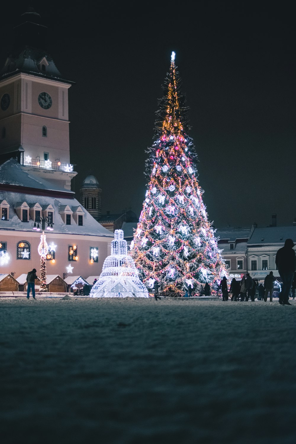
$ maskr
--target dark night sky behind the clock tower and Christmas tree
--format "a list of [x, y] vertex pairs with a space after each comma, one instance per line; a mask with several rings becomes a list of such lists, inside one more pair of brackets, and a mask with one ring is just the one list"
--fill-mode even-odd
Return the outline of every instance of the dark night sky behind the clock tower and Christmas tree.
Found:
[[[214, 226], [292, 225], [292, 2], [31, 2], [69, 90], [76, 198], [87, 174], [102, 211], [142, 210], [145, 150], [171, 52], [187, 97], [199, 183]], [[99, 7], [97, 8], [97, 6]], [[0, 64], [24, 2], [1, 6]], [[5, 19], [5, 20], [4, 20]]]

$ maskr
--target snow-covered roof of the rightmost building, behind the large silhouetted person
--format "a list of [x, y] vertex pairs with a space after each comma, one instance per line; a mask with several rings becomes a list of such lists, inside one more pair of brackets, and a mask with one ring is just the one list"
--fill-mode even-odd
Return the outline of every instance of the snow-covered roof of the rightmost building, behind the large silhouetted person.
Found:
[[296, 243], [296, 226], [268, 226], [255, 228], [248, 241], [251, 245], [284, 245], [286, 239], [292, 239]]

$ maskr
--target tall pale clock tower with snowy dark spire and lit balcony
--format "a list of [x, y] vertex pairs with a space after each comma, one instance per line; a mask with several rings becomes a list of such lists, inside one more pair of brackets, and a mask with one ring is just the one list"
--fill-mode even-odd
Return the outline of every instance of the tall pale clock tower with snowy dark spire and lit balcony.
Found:
[[68, 90], [46, 51], [47, 28], [33, 8], [14, 28], [12, 51], [0, 71], [0, 164], [14, 157], [30, 175], [71, 190]]

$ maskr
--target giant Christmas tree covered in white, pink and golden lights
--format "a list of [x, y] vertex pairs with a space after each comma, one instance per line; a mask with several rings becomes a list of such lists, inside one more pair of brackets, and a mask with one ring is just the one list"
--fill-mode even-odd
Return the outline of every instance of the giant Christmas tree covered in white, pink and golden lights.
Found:
[[197, 182], [197, 155], [174, 56], [156, 113], [146, 164], [149, 183], [130, 254], [148, 288], [158, 281], [164, 291], [181, 292], [208, 282], [216, 290], [227, 272]]

